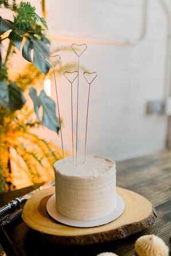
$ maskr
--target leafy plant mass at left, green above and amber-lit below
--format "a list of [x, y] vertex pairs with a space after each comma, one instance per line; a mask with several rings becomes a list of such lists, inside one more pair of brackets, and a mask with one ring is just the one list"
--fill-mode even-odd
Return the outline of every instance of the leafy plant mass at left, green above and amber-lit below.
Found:
[[[17, 5], [14, 0], [12, 3], [0, 0], [0, 7], [14, 13], [13, 21], [0, 17], [0, 192], [5, 192], [14, 188], [11, 162], [17, 165], [19, 173], [25, 171], [29, 180], [37, 183], [52, 179], [53, 162], [61, 158], [62, 154], [55, 145], [32, 133], [33, 127], [41, 125], [59, 131], [55, 102], [43, 90], [37, 96], [36, 89], [32, 88], [30, 96], [34, 101], [34, 108], [42, 106], [44, 113], [41, 120], [36, 111], [37, 120], [33, 120], [33, 110], [27, 106], [24, 96], [29, 94], [30, 86], [37, 88], [42, 85], [44, 76], [50, 69], [44, 59], [50, 52], [50, 41], [45, 37], [43, 28], [47, 28], [46, 22], [36, 14], [35, 7], [29, 2]], [[9, 44], [5, 57], [2, 58], [3, 42], [6, 40]], [[8, 69], [11, 57], [17, 49], [30, 64], [25, 67], [24, 72], [11, 80]], [[72, 65], [63, 66], [60, 63], [56, 71], [60, 73]]]

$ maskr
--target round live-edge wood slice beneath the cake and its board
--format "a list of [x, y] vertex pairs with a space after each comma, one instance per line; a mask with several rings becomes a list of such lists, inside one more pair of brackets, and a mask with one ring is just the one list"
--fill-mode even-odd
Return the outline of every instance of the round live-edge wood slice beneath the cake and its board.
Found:
[[38, 191], [26, 202], [22, 212], [24, 222], [50, 242], [86, 245], [113, 241], [148, 228], [157, 218], [149, 200], [133, 191], [117, 188], [126, 205], [118, 219], [98, 227], [71, 227], [56, 222], [46, 212], [46, 203], [54, 193], [55, 187]]

